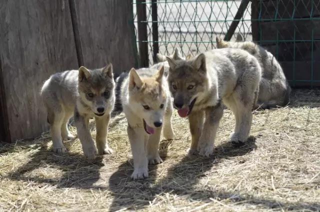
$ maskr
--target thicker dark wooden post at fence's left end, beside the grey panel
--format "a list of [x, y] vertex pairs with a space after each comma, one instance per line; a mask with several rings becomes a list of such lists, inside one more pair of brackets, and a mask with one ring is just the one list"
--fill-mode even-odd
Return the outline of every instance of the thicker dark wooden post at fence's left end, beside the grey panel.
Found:
[[136, 15], [138, 21], [138, 40], [139, 40], [139, 66], [149, 66], [148, 61], [148, 32], [146, 22], [145, 0], [136, 0]]

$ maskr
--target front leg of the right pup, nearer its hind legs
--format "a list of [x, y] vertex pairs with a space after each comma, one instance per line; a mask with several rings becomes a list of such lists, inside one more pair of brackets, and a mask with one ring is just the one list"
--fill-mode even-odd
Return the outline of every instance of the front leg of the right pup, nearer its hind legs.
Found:
[[223, 108], [220, 103], [205, 109], [205, 121], [197, 147], [200, 155], [208, 157], [213, 153], [214, 139], [222, 115]]

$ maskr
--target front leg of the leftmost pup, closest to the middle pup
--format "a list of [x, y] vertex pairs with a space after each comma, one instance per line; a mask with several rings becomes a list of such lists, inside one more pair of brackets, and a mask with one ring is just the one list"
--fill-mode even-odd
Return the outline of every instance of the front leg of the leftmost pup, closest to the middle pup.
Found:
[[105, 114], [102, 117], [95, 117], [95, 128], [96, 128], [96, 148], [98, 149], [98, 154], [111, 154], [112, 149], [107, 143], [107, 128], [110, 120], [110, 115]]

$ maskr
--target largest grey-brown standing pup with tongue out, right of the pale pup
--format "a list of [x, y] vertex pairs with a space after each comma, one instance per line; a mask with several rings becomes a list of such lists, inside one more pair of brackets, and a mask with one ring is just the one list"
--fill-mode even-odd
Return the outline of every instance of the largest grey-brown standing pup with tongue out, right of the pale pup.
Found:
[[191, 146], [188, 152], [198, 151], [202, 156], [212, 154], [223, 114], [221, 101], [235, 116], [231, 142], [243, 144], [250, 131], [251, 110], [261, 77], [256, 58], [244, 50], [231, 48], [214, 49], [189, 60], [166, 58], [170, 65], [167, 79], [174, 107], [181, 117], [189, 119]]

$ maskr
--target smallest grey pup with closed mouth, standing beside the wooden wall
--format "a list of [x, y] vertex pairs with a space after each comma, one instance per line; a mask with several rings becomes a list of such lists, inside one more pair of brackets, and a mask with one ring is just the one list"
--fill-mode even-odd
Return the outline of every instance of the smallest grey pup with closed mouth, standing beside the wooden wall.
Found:
[[114, 105], [114, 80], [112, 64], [89, 70], [55, 73], [41, 88], [41, 97], [47, 109], [47, 120], [54, 152], [65, 152], [63, 140], [72, 138], [67, 123], [74, 112], [77, 135], [83, 153], [89, 159], [96, 156], [96, 148], [88, 129], [89, 118], [96, 123], [96, 147], [98, 154], [109, 154], [112, 150], [106, 141], [110, 112]]

